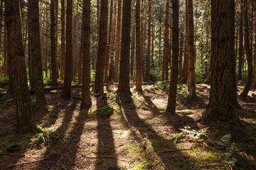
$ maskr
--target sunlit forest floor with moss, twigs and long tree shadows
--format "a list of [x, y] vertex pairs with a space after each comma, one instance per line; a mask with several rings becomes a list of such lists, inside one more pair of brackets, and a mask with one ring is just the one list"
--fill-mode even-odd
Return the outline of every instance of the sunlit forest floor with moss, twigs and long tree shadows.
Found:
[[117, 96], [117, 86], [109, 86], [107, 104], [92, 96], [89, 110], [80, 110], [81, 89], [71, 99], [49, 91], [47, 106], [33, 106], [39, 134], [17, 134], [14, 101], [1, 98], [0, 169], [256, 169], [255, 89], [239, 101], [242, 125], [209, 127], [198, 121], [209, 84], [196, 86], [193, 101], [186, 85], [178, 85], [172, 115], [164, 112], [168, 83], [143, 89], [142, 96]]

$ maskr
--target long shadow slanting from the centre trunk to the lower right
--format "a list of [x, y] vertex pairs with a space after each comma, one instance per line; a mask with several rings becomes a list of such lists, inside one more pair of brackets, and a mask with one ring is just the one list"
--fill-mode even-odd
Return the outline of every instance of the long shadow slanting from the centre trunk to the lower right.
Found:
[[[146, 103], [152, 106], [152, 111], [159, 114], [160, 112], [157, 110], [154, 103], [151, 102], [150, 98], [148, 96], [144, 96], [144, 98]], [[188, 157], [186, 157], [186, 155], [182, 154], [180, 151], [164, 152], [166, 150], [175, 149], [176, 145], [171, 140], [159, 135], [151, 128], [151, 125], [148, 125], [144, 122], [144, 120], [139, 118], [131, 96], [119, 96], [117, 100], [119, 100], [120, 104], [124, 108], [124, 115], [126, 116], [129, 125], [138, 130], [142, 137], [141, 140], [147, 139], [151, 142], [151, 145], [154, 147], [154, 153], [156, 153], [156, 159], [160, 160], [160, 162], [164, 164], [166, 168], [182, 169], [190, 165], [188, 162]], [[183, 162], [180, 160], [183, 160]]]

